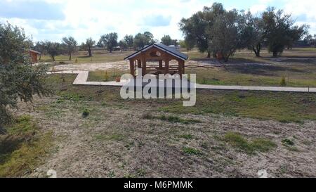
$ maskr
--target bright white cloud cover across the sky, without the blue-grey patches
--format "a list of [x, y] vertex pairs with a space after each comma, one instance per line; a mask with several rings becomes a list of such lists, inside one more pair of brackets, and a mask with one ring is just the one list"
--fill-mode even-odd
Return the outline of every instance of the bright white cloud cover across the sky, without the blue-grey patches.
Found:
[[[29, 1], [34, 4], [39, 0], [5, 0]], [[160, 39], [164, 34], [170, 34], [175, 39], [182, 39], [178, 23], [181, 18], [190, 17], [192, 13], [202, 10], [204, 6], [211, 6], [209, 0], [42, 0], [48, 4], [58, 4], [65, 15], [63, 20], [39, 20], [22, 18], [0, 18], [0, 22], [8, 20], [13, 25], [25, 28], [27, 34], [33, 34], [34, 41], [60, 41], [64, 36], [72, 35], [79, 42], [88, 37], [98, 40], [101, 34], [118, 32], [119, 39], [125, 34], [136, 34], [148, 30]], [[258, 3], [245, 4], [244, 9], [250, 7], [251, 12], [264, 11], [273, 0], [259, 0]], [[279, 4], [280, 1], [278, 1]], [[223, 1], [225, 6], [225, 1]], [[238, 1], [236, 1], [236, 5]], [[282, 1], [281, 8], [293, 13], [294, 17], [305, 14], [307, 23], [316, 33], [316, 10], [312, 0]], [[238, 4], [240, 5], [240, 4]], [[231, 6], [234, 6], [232, 4]], [[240, 7], [240, 6], [239, 6]], [[1, 17], [1, 15], [0, 15]], [[168, 18], [169, 25], [148, 25], [146, 18]], [[167, 23], [167, 22], [165, 22]]]

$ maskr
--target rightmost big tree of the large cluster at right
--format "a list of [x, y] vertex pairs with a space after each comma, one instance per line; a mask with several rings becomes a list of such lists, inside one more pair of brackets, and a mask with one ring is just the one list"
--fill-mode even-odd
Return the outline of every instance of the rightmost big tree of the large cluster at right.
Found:
[[267, 8], [262, 15], [263, 30], [265, 31], [265, 41], [268, 44], [268, 51], [274, 57], [279, 56], [285, 46], [293, 44], [296, 39], [301, 39], [307, 30], [307, 26], [294, 26], [291, 15], [284, 14], [282, 10]]

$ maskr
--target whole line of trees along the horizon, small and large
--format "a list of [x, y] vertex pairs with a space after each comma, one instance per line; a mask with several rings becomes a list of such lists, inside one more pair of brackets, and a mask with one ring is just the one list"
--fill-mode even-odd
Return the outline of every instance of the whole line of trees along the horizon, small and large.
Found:
[[[298, 26], [294, 23], [291, 15], [272, 7], [268, 7], [260, 15], [253, 15], [250, 11], [227, 11], [223, 4], [214, 3], [211, 7], [205, 6], [190, 18], [180, 20], [179, 27], [184, 40], [178, 41], [166, 34], [160, 42], [167, 46], [180, 45], [188, 51], [197, 47], [201, 53], [207, 53], [207, 58], [220, 54], [225, 61], [239, 49], [249, 49], [256, 57], [260, 57], [265, 46], [272, 56], [277, 57], [284, 49], [291, 49], [300, 39], [303, 39], [305, 45], [316, 46], [316, 36], [308, 34], [309, 26]], [[119, 41], [117, 32], [111, 32], [101, 35], [98, 41], [90, 37], [80, 46], [73, 37], [64, 37], [61, 44], [40, 41], [35, 44], [34, 49], [48, 53], [53, 60], [55, 56], [67, 53], [71, 60], [72, 53], [78, 49], [88, 51], [88, 56], [91, 57], [92, 49], [96, 46], [112, 53], [116, 46], [119, 46], [121, 51], [139, 50], [158, 41], [151, 32], [138, 33], [135, 36], [126, 34]]]

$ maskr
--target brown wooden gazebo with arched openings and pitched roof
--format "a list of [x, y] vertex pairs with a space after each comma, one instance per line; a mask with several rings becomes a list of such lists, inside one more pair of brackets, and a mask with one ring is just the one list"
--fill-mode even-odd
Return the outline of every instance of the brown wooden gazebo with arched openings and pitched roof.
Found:
[[[173, 47], [164, 44], [150, 44], [124, 58], [124, 60], [129, 60], [133, 77], [136, 77], [137, 67], [142, 68], [143, 75], [179, 74], [182, 77], [185, 72], [185, 60], [187, 58], [187, 55]], [[176, 60], [178, 65], [169, 65], [171, 60]], [[157, 62], [159, 65], [146, 65], [147, 62]]]

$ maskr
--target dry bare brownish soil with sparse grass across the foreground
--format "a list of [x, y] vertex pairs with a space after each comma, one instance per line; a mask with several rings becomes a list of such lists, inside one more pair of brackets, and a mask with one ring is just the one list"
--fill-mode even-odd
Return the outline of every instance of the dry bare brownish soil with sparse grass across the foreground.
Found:
[[[183, 124], [148, 120], [144, 114], [169, 115], [148, 107], [55, 97], [36, 98], [36, 110], [21, 103], [15, 114], [29, 113], [55, 137], [53, 153], [27, 177], [45, 177], [48, 169], [58, 177], [258, 177], [260, 169], [268, 177], [316, 177], [316, 122], [189, 114], [179, 116], [200, 122]], [[83, 108], [91, 110], [86, 118]], [[277, 147], [249, 155], [221, 139], [227, 132], [269, 139]], [[284, 146], [283, 139], [294, 141], [295, 148]]]

